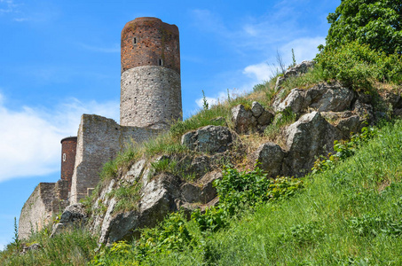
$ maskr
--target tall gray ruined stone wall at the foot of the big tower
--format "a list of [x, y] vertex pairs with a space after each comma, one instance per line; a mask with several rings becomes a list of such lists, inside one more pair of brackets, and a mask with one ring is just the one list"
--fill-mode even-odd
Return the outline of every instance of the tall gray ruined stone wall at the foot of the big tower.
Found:
[[72, 178], [70, 203], [75, 204], [99, 183], [103, 165], [113, 160], [130, 141], [142, 142], [159, 130], [122, 127], [112, 119], [83, 114], [78, 129], [75, 172]]

